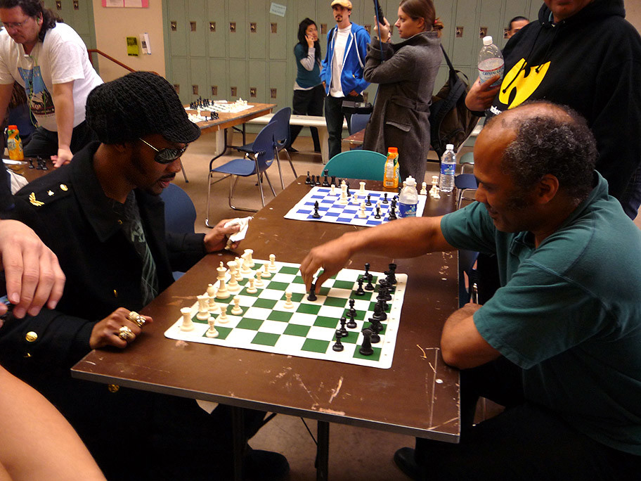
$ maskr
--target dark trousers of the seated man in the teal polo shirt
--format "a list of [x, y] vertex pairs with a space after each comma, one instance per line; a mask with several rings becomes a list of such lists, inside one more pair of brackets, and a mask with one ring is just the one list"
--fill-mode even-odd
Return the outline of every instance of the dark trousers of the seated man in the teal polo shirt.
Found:
[[[479, 395], [507, 408], [472, 426]], [[520, 369], [504, 358], [461, 371], [460, 444], [416, 441], [416, 461], [430, 481], [627, 480], [641, 470], [641, 456], [600, 444], [524, 401]]]

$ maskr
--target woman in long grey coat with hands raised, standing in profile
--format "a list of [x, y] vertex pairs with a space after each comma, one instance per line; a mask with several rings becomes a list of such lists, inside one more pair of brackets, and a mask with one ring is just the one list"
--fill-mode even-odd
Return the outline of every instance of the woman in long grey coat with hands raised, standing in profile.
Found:
[[441, 65], [441, 28], [432, 0], [401, 0], [394, 24], [401, 41], [391, 44], [387, 18], [374, 27], [363, 77], [380, 84], [363, 148], [383, 154], [399, 149], [401, 180], [425, 178], [429, 152], [429, 105]]

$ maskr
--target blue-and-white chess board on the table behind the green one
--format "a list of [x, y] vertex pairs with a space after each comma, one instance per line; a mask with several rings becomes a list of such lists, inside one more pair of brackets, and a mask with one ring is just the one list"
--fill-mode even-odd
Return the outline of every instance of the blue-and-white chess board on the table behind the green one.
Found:
[[[299, 200], [299, 202], [285, 214], [285, 219], [294, 220], [311, 220], [320, 222], [332, 222], [334, 224], [351, 224], [354, 226], [377, 226], [384, 222], [389, 222], [387, 214], [389, 212], [389, 201], [394, 197], [394, 193], [382, 191], [369, 191], [365, 189], [365, 193], [360, 193], [360, 189], [351, 189], [351, 196], [349, 203], [342, 205], [338, 203], [340, 198], [340, 188], [335, 188], [335, 193], [331, 193], [330, 187], [312, 187], [310, 191]], [[361, 210], [361, 202], [367, 199], [370, 195], [370, 203], [372, 205], [365, 206], [365, 218], [358, 217], [358, 212]], [[387, 194], [388, 203], [384, 204], [384, 195]], [[354, 196], [356, 195], [356, 200]], [[417, 217], [422, 216], [425, 209], [425, 201], [427, 196], [418, 196], [418, 205], [416, 206]], [[380, 205], [380, 219], [376, 219], [376, 205], [381, 201]], [[313, 218], [314, 203], [318, 202], [318, 214], [321, 214], [320, 219]], [[396, 206], [396, 215], [399, 214], [398, 205]]]

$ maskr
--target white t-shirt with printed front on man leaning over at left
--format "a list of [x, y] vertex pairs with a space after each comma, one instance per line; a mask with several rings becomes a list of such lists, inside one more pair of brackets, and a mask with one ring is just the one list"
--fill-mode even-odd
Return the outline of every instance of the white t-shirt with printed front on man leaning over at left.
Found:
[[47, 130], [58, 131], [53, 106], [53, 84], [74, 81], [74, 127], [84, 121], [89, 92], [103, 83], [93, 70], [86, 46], [69, 25], [56, 23], [44, 42], [37, 42], [30, 55], [16, 44], [6, 30], [0, 31], [0, 84], [25, 87], [27, 103], [36, 120]]

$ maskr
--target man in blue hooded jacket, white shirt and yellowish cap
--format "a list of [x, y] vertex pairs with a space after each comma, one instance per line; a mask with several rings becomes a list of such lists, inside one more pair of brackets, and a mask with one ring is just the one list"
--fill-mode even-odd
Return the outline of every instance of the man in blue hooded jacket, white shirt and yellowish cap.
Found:
[[351, 23], [351, 1], [333, 0], [336, 27], [328, 33], [327, 55], [321, 65], [325, 88], [325, 122], [330, 138], [329, 156], [341, 151], [343, 116], [349, 124], [351, 115], [342, 112], [343, 101], [363, 101], [363, 90], [369, 82], [363, 79], [363, 66], [370, 34], [361, 25]]

